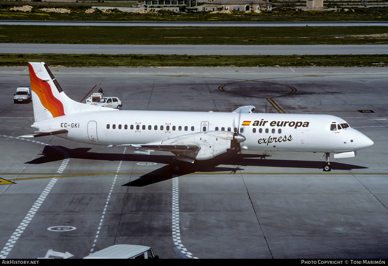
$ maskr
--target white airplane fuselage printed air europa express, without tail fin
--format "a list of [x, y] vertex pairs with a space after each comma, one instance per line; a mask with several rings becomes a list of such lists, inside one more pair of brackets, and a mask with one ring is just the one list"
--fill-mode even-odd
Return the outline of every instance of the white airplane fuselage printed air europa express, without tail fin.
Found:
[[[33, 127], [67, 129], [57, 136], [100, 145], [161, 144], [196, 132], [223, 130], [246, 137], [244, 150], [347, 152], [373, 143], [331, 115], [216, 113], [183, 111], [86, 111], [35, 122]], [[341, 126], [340, 126], [341, 127]]]

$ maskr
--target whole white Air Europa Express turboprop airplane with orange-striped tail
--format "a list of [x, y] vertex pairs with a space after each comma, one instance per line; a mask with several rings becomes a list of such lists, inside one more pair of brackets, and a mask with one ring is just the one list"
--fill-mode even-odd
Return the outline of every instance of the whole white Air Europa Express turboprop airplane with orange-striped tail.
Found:
[[38, 131], [21, 137], [57, 135], [82, 143], [171, 151], [176, 173], [182, 172], [184, 162], [231, 149], [324, 153], [323, 169], [330, 171], [330, 153], [352, 157], [373, 145], [332, 115], [252, 113], [254, 106], [232, 113], [118, 111], [78, 103], [66, 96], [45, 63], [28, 64], [35, 117], [31, 127]]

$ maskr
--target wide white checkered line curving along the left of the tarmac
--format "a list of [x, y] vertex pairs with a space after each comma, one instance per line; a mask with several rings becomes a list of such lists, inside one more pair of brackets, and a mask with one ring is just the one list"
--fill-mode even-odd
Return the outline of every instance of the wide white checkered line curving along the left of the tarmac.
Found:
[[[52, 146], [52, 145], [47, 144], [47, 143], [30, 140], [30, 139], [23, 139], [23, 138], [19, 138], [19, 137], [12, 137], [12, 136], [5, 136], [5, 135], [0, 135], [0, 136], [14, 138], [14, 139], [21, 139], [21, 140], [25, 140], [25, 141], [31, 141], [31, 142], [35, 142], [35, 143], [42, 144], [45, 146], [50, 146], [51, 148], [54, 148], [55, 150], [61, 151], [64, 155], [64, 159], [57, 170], [57, 174], [62, 174], [62, 172], [65, 170], [66, 166], [69, 163], [69, 160], [70, 160], [69, 153], [67, 153], [66, 151], [64, 151], [58, 147]], [[46, 188], [42, 191], [42, 193], [40, 194], [38, 199], [35, 201], [34, 205], [31, 207], [31, 209], [29, 210], [26, 217], [24, 217], [23, 221], [19, 224], [17, 229], [14, 231], [12, 236], [9, 238], [9, 240], [7, 241], [5, 246], [3, 247], [2, 251], [0, 251], [0, 259], [7, 258], [7, 256], [9, 255], [9, 252], [12, 250], [12, 247], [14, 247], [14, 243], [16, 243], [16, 241], [19, 239], [19, 236], [21, 236], [21, 234], [24, 232], [24, 229], [26, 229], [29, 222], [35, 216], [36, 212], [38, 211], [38, 209], [42, 205], [43, 201], [46, 199], [47, 195], [49, 195], [51, 189], [54, 187], [55, 183], [58, 180], [57, 177], [51, 177], [51, 178], [52, 179], [50, 180], [49, 184], [47, 184]]]

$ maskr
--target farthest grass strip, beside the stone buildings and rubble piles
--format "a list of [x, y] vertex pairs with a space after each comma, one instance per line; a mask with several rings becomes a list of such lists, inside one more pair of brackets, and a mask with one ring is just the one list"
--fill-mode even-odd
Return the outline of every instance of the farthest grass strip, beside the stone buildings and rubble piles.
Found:
[[[258, 14], [255, 12], [245, 13], [234, 11], [232, 14], [211, 14], [210, 12], [187, 12], [177, 13], [168, 10], [160, 10], [157, 13], [139, 14], [134, 12], [120, 12], [113, 10], [113, 13], [107, 14], [101, 11], [95, 11], [92, 14], [86, 14], [85, 10], [93, 6], [130, 7], [133, 2], [38, 2], [38, 1], [2, 1], [0, 0], [0, 17], [6, 20], [50, 20], [50, 21], [386, 21], [388, 8], [386, 6], [369, 8], [346, 8], [339, 10], [325, 11], [302, 11], [296, 9], [276, 9], [277, 4], [273, 4], [272, 11], [263, 11]], [[201, 10], [201, 3], [198, 3]], [[337, 2], [333, 2], [338, 5]], [[359, 4], [359, 2], [357, 3]], [[14, 6], [31, 5], [31, 12], [12, 11]], [[304, 1], [302, 5], [306, 5]], [[61, 14], [55, 12], [43, 12], [42, 8], [66, 8], [71, 13]]]

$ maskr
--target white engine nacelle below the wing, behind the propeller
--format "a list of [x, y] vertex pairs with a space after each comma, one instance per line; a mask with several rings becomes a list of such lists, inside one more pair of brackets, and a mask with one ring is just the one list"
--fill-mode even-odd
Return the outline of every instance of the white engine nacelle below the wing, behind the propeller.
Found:
[[205, 131], [166, 139], [162, 144], [195, 144], [198, 151], [172, 151], [175, 155], [189, 157], [193, 160], [208, 160], [234, 148], [237, 143], [245, 141], [241, 134], [230, 131]]

